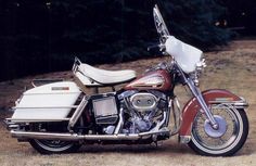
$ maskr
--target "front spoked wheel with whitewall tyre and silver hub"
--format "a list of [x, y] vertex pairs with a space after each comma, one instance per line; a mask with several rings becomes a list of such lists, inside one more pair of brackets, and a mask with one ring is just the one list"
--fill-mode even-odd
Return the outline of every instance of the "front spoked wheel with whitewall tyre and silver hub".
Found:
[[202, 155], [229, 156], [238, 152], [248, 135], [248, 120], [244, 110], [231, 105], [212, 105], [212, 112], [218, 129], [212, 128], [208, 119], [201, 112], [194, 118], [191, 149]]

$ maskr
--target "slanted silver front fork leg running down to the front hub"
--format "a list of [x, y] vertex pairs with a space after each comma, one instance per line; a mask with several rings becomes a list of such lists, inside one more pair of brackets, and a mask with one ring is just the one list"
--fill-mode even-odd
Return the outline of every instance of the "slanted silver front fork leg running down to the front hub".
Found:
[[191, 92], [193, 93], [193, 95], [197, 100], [200, 106], [204, 111], [204, 113], [205, 113], [206, 117], [208, 118], [212, 127], [214, 129], [218, 129], [218, 127], [219, 127], [218, 123], [215, 120], [213, 113], [210, 112], [207, 104], [205, 103], [205, 100], [202, 95], [202, 92], [201, 92], [200, 88], [194, 85], [194, 81], [191, 78], [188, 78], [187, 85], [189, 86]]

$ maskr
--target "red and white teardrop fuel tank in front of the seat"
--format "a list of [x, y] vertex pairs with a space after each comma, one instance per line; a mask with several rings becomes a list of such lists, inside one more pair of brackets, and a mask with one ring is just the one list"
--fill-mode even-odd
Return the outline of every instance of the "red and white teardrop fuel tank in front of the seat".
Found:
[[145, 73], [125, 87], [126, 90], [161, 90], [167, 91], [172, 88], [171, 77], [167, 71], [158, 69]]

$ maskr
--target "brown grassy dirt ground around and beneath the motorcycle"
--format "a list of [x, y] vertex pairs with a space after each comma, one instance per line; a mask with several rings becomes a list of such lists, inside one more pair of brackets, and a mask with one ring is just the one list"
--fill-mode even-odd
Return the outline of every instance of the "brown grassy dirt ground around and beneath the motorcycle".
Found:
[[[248, 103], [249, 135], [242, 150], [231, 157], [200, 156], [187, 145], [179, 144], [177, 137], [154, 145], [89, 145], [82, 146], [78, 153], [61, 155], [41, 155], [28, 143], [18, 143], [10, 137], [2, 120], [10, 117], [9, 107], [24, 91], [30, 88], [34, 78], [73, 79], [71, 72], [30, 76], [0, 82], [0, 165], [2, 166], [69, 166], [69, 165], [104, 165], [104, 166], [248, 166], [256, 165], [256, 40], [233, 41], [222, 51], [206, 53], [207, 68], [201, 78], [201, 89], [223, 88], [244, 97]], [[145, 68], [168, 58], [140, 60], [116, 65], [101, 65], [101, 68], [132, 68], [142, 73]], [[184, 103], [188, 97], [182, 87], [176, 90]]]

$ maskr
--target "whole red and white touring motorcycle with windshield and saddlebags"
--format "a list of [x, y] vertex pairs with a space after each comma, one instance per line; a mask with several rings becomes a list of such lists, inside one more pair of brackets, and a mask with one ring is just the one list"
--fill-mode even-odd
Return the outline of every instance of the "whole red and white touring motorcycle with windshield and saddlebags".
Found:
[[[157, 143], [175, 135], [201, 155], [238, 152], [248, 135], [247, 102], [228, 90], [201, 91], [203, 52], [169, 35], [157, 5], [153, 16], [159, 35], [155, 47], [169, 62], [137, 77], [135, 71], [100, 69], [76, 58], [75, 81], [34, 85], [16, 101], [14, 114], [5, 119], [11, 136], [42, 154], [93, 143]], [[120, 84], [126, 86], [116, 91]], [[193, 95], [183, 108], [174, 92], [177, 85], [187, 86]], [[113, 90], [99, 93], [102, 87]], [[94, 92], [88, 94], [85, 88]]]

